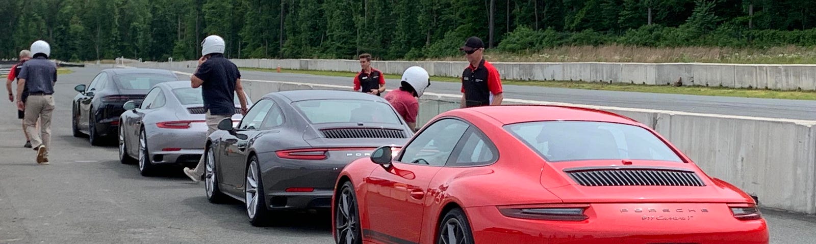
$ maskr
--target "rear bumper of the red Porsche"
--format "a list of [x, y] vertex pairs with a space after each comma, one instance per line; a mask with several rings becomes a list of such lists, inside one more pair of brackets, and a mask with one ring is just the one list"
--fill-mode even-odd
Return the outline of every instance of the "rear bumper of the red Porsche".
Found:
[[[704, 209], [704, 211], [703, 211]], [[767, 244], [764, 219], [737, 220], [726, 204], [592, 204], [588, 220], [526, 220], [497, 207], [466, 209], [476, 243]]]

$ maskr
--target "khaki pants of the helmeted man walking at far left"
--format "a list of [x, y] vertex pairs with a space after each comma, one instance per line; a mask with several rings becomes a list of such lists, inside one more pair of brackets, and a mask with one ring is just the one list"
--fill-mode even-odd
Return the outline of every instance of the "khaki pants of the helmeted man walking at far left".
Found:
[[[25, 101], [25, 132], [31, 137], [31, 146], [46, 146], [46, 155], [51, 150], [51, 113], [54, 112], [54, 97], [51, 95], [30, 95]], [[40, 133], [37, 133], [37, 120]], [[41, 135], [42, 133], [42, 135]]]

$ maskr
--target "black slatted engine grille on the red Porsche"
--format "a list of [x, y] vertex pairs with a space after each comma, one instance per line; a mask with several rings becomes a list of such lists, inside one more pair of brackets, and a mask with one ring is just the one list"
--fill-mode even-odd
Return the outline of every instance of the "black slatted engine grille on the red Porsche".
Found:
[[567, 170], [575, 182], [584, 186], [668, 185], [705, 186], [696, 173], [681, 169], [632, 168]]

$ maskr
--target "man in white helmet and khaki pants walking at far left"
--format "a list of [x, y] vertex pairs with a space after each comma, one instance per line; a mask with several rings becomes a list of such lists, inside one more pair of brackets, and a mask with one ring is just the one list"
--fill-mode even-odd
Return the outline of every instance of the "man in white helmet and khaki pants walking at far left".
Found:
[[[25, 111], [25, 131], [31, 137], [31, 146], [37, 150], [37, 163], [48, 164], [48, 150], [51, 150], [51, 113], [54, 111], [54, 83], [56, 63], [48, 60], [51, 46], [46, 41], [31, 44], [33, 59], [23, 63], [17, 75], [17, 108]], [[28, 89], [28, 98], [23, 100], [23, 89]], [[40, 133], [37, 133], [37, 119]]]

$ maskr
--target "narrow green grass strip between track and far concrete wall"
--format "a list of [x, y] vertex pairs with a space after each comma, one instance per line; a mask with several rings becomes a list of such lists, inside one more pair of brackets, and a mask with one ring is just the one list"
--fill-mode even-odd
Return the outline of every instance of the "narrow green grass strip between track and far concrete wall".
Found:
[[[260, 72], [277, 72], [271, 68], [241, 68], [246, 71], [260, 71]], [[331, 71], [313, 71], [313, 70], [291, 70], [282, 69], [281, 72], [309, 74], [316, 76], [340, 76], [340, 77], [354, 77], [355, 72], [331, 72]], [[400, 79], [401, 76], [385, 75], [386, 79]], [[446, 76], [432, 76], [431, 82], [460, 82], [459, 78]], [[351, 85], [351, 79], [348, 84]], [[502, 81], [503, 85], [530, 85], [552, 88], [570, 88], [570, 89], [595, 89], [595, 90], [613, 90], [613, 91], [628, 91], [628, 92], [644, 92], [654, 94], [689, 94], [689, 95], [703, 95], [703, 96], [721, 96], [721, 97], [740, 97], [740, 98], [780, 98], [780, 99], [796, 99], [796, 100], [816, 100], [816, 92], [814, 91], [781, 91], [771, 89], [734, 89], [726, 87], [707, 87], [707, 86], [670, 86], [670, 85], [632, 85], [632, 84], [609, 84], [600, 82], [585, 82], [585, 81]]]

